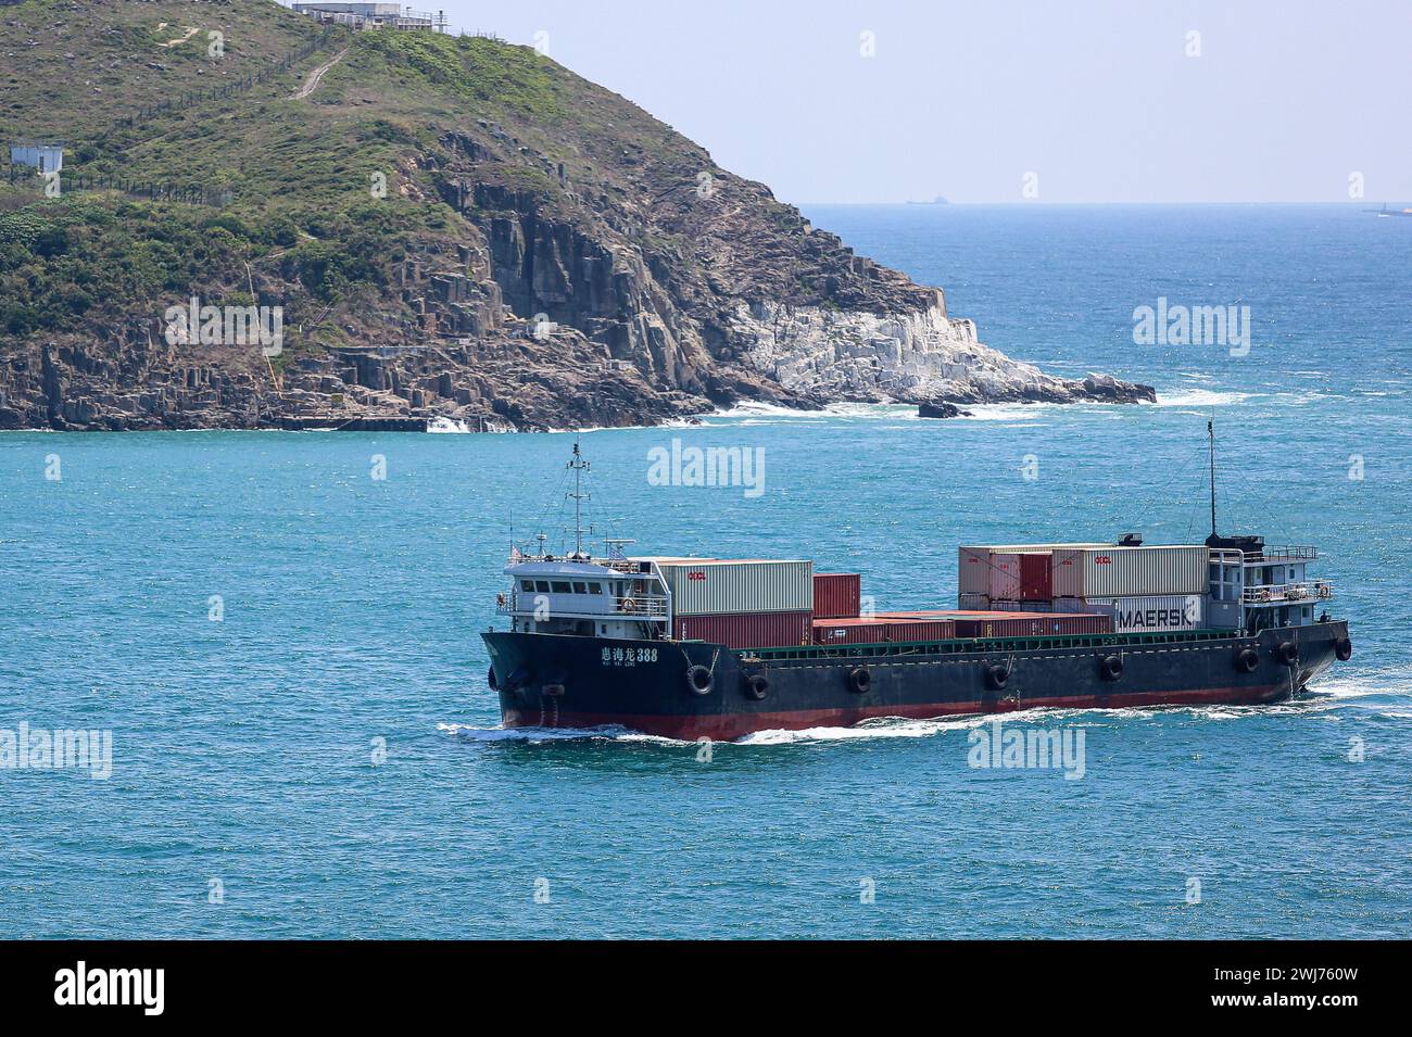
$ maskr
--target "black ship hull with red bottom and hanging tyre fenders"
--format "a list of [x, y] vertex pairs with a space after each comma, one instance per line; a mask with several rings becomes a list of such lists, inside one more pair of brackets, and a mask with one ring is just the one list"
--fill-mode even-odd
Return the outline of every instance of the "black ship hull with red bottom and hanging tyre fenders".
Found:
[[481, 636], [505, 727], [618, 725], [722, 741], [873, 717], [1274, 703], [1351, 650], [1343, 621], [1254, 636], [1196, 631], [755, 650]]

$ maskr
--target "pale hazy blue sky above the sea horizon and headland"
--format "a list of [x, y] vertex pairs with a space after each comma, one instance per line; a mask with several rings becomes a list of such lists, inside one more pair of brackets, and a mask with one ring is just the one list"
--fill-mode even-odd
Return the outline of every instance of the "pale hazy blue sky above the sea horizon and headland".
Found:
[[546, 34], [788, 202], [1412, 200], [1408, 0], [411, 6]]

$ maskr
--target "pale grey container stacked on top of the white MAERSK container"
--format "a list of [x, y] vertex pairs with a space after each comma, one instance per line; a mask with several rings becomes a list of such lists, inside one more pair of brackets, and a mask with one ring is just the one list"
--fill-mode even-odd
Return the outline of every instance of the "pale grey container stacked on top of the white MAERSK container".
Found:
[[1124, 598], [1203, 594], [1209, 556], [1204, 545], [1056, 550], [1053, 595]]

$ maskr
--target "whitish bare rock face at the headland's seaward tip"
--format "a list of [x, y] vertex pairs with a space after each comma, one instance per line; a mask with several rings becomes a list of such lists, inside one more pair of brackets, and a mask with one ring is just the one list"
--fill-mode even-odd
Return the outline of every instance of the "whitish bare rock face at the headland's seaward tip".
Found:
[[938, 305], [878, 316], [741, 303], [731, 325], [747, 360], [786, 389], [833, 399], [1070, 399], [1080, 382], [1043, 374], [976, 339]]

